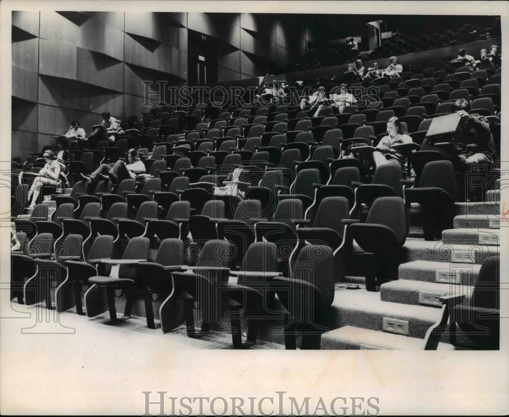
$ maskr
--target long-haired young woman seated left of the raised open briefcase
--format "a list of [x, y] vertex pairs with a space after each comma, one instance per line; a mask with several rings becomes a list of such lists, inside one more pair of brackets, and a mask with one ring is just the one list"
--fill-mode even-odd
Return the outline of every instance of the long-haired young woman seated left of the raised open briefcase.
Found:
[[412, 143], [412, 138], [403, 133], [401, 121], [398, 117], [391, 117], [387, 121], [387, 136], [384, 136], [377, 145], [377, 150], [373, 152], [375, 168], [383, 164], [400, 165], [405, 168], [407, 158], [395, 149], [394, 145], [402, 143]]

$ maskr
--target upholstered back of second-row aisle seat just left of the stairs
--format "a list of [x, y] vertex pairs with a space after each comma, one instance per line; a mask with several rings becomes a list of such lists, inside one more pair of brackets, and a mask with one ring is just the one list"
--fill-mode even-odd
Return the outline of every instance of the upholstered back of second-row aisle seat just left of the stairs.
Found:
[[381, 224], [394, 233], [398, 244], [405, 243], [408, 234], [405, 203], [401, 197], [379, 197], [367, 214], [366, 223]]

